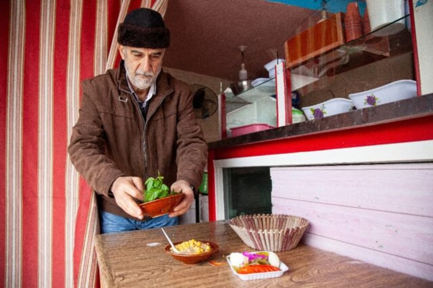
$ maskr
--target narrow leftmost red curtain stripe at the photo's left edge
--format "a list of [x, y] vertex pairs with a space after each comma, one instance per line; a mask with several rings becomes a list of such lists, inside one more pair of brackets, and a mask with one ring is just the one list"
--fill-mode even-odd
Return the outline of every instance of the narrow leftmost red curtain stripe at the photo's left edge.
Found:
[[[2, 75], [0, 75], [0, 150], [6, 151], [6, 99], [7, 99], [7, 83], [8, 83], [8, 43], [9, 43], [9, 1], [0, 1], [0, 11], [2, 11], [2, 17], [0, 17], [0, 39], [3, 42], [3, 49], [0, 50], [0, 67], [2, 67]], [[0, 157], [0, 212], [2, 213], [0, 218], [0, 271], [5, 276], [5, 259], [6, 259], [6, 157]], [[2, 277], [0, 277], [2, 278]], [[4, 278], [2, 278], [4, 279]], [[4, 285], [5, 281], [1, 283]], [[2, 285], [0, 284], [0, 285]]]

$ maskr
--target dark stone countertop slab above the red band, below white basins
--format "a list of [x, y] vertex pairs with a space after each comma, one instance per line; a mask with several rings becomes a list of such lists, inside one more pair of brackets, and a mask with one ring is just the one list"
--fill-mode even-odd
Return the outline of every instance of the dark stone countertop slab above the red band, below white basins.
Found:
[[433, 94], [353, 110], [318, 120], [304, 121], [251, 134], [210, 142], [208, 147], [220, 149], [255, 142], [327, 133], [433, 115]]

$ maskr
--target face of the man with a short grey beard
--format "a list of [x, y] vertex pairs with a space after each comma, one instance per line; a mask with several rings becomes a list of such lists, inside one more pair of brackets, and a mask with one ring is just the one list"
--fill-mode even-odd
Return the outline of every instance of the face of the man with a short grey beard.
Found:
[[146, 90], [158, 77], [165, 49], [136, 48], [119, 45], [126, 73], [134, 89]]

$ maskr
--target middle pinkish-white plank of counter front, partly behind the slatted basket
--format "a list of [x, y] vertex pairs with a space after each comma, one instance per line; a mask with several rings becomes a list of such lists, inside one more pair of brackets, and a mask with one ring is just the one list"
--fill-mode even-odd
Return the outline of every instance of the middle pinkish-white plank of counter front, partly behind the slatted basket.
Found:
[[301, 216], [308, 231], [433, 265], [433, 218], [272, 197], [272, 213]]

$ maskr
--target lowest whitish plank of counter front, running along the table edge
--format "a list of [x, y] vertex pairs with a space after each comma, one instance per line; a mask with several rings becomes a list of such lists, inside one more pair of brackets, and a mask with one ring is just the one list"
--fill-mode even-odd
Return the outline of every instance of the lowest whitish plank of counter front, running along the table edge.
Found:
[[433, 281], [433, 266], [410, 258], [371, 250], [308, 232], [304, 234], [302, 242], [309, 246], [362, 260], [366, 263]]

